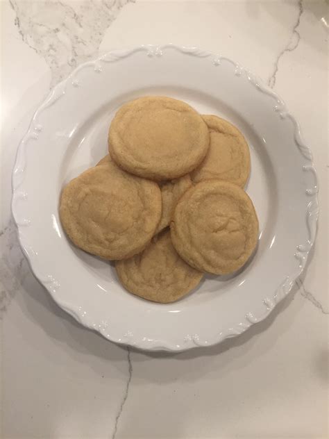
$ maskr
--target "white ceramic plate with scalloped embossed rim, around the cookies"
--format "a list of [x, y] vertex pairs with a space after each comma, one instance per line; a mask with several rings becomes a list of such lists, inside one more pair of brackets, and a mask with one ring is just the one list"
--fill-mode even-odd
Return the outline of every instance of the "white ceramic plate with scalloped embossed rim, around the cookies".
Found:
[[[260, 219], [258, 251], [242, 272], [205, 276], [167, 305], [126, 292], [113, 265], [71, 245], [58, 219], [63, 185], [106, 155], [116, 110], [145, 94], [183, 99], [238, 126]], [[214, 345], [267, 317], [305, 267], [319, 212], [312, 155], [282, 100], [233, 61], [172, 44], [112, 51], [58, 84], [19, 145], [12, 186], [22, 248], [57, 304], [109, 340], [149, 350]]]

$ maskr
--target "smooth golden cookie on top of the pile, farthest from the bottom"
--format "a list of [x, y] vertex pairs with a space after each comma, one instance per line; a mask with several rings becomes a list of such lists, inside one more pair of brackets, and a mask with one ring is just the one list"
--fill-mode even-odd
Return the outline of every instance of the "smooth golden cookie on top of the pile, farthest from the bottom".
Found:
[[199, 165], [209, 138], [202, 117], [187, 103], [151, 96], [121, 106], [110, 126], [108, 147], [122, 169], [162, 181]]

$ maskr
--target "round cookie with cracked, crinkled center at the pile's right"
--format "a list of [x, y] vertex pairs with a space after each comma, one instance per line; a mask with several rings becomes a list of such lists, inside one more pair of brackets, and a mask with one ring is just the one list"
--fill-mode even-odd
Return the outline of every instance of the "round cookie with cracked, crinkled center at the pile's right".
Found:
[[239, 186], [221, 180], [196, 183], [178, 200], [171, 239], [189, 265], [204, 272], [239, 270], [258, 242], [258, 218]]

